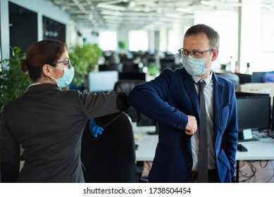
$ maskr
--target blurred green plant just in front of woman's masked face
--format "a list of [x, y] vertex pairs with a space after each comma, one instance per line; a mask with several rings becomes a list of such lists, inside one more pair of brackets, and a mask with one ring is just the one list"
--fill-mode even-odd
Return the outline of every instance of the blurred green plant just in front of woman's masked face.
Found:
[[98, 44], [84, 44], [83, 46], [75, 45], [68, 49], [70, 61], [75, 68], [75, 77], [73, 84], [81, 86], [89, 71], [94, 70], [103, 51]]

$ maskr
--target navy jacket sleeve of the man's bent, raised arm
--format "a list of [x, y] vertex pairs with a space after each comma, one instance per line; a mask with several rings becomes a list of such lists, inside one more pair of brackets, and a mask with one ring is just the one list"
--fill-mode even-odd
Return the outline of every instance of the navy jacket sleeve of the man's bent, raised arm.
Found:
[[128, 95], [127, 102], [151, 119], [178, 129], [185, 129], [187, 115], [166, 101], [168, 94], [174, 94], [171, 92], [174, 83], [173, 75], [176, 74], [166, 69], [155, 80], [137, 85]]

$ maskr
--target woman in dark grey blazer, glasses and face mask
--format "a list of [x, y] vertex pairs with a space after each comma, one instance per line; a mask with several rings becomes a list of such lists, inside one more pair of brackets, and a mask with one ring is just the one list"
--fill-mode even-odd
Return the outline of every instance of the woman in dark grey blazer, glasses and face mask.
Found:
[[[74, 75], [62, 42], [32, 44], [20, 65], [34, 84], [1, 114], [1, 182], [85, 182], [80, 160], [85, 125], [126, 110], [127, 94], [61, 91]], [[25, 163], [19, 172], [20, 146]]]

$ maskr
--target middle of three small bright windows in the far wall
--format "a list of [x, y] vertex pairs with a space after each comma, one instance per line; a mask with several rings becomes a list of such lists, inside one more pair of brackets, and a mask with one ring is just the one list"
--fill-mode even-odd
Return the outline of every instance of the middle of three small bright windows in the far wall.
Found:
[[147, 31], [132, 30], [129, 32], [130, 51], [147, 51], [149, 49], [149, 37]]

